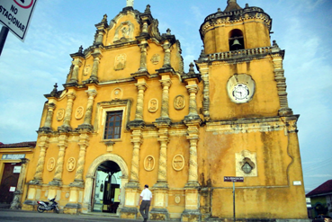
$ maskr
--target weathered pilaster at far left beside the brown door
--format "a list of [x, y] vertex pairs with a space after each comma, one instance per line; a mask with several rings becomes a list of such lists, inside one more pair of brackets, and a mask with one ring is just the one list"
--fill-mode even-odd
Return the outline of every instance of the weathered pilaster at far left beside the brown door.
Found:
[[19, 179], [17, 182], [16, 191], [13, 192], [13, 202], [11, 204], [10, 209], [21, 209], [22, 208], [21, 200], [22, 200], [24, 180], [26, 177], [26, 168], [27, 168], [28, 163], [29, 163], [29, 159], [26, 159], [26, 158], [21, 159], [21, 172], [20, 172]]

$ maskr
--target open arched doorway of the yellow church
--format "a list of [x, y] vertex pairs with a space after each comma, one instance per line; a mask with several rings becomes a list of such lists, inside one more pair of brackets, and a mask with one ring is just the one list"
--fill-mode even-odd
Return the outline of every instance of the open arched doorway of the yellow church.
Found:
[[116, 213], [121, 201], [121, 168], [113, 161], [99, 164], [94, 173], [92, 211]]

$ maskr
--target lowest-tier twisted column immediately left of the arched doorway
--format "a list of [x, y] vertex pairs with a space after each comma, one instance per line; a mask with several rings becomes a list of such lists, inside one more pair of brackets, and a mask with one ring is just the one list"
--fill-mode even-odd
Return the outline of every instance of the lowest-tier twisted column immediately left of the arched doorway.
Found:
[[90, 138], [87, 133], [79, 135], [79, 142], [78, 142], [79, 154], [76, 165], [75, 179], [74, 182], [70, 183], [70, 186], [76, 186], [76, 187], [84, 186], [83, 173], [85, 167], [85, 154], [86, 154], [86, 148], [89, 147], [89, 140]]

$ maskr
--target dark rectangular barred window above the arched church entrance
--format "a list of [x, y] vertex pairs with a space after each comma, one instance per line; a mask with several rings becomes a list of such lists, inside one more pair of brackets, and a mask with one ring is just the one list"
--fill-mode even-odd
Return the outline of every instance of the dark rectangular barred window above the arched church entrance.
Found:
[[104, 139], [121, 138], [122, 111], [107, 112]]

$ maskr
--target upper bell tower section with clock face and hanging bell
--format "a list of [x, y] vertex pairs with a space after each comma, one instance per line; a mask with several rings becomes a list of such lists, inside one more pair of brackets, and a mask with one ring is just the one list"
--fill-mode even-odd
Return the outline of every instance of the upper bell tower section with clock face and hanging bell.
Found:
[[271, 28], [272, 19], [263, 9], [248, 4], [242, 8], [236, 0], [205, 18], [200, 28], [204, 49], [196, 65], [204, 83], [206, 120], [292, 114], [283, 76], [284, 50], [275, 41], [271, 45]]

